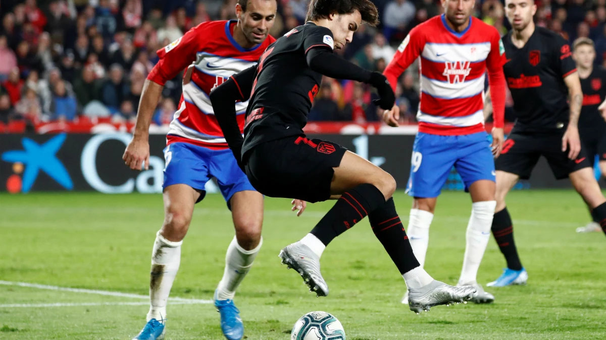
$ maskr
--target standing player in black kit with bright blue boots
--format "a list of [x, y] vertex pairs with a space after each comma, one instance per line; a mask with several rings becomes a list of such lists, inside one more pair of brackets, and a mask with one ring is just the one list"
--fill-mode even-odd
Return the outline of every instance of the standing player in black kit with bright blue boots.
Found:
[[606, 198], [579, 139], [583, 94], [572, 51], [558, 33], [535, 27], [534, 13], [533, 0], [505, 1], [505, 15], [513, 29], [502, 38], [503, 69], [518, 119], [496, 160], [497, 205], [492, 232], [507, 268], [487, 286], [525, 284], [528, 279], [513, 240], [505, 195], [519, 178], [530, 177], [541, 155], [556, 178], [570, 178], [606, 232]]

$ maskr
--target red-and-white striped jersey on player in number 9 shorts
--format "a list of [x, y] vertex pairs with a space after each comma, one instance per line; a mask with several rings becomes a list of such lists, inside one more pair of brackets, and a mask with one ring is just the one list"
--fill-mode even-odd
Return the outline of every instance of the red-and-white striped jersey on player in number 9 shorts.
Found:
[[484, 74], [502, 74], [505, 55], [496, 28], [471, 17], [456, 33], [444, 15], [410, 31], [385, 76], [394, 88], [398, 77], [421, 57], [419, 132], [462, 135], [484, 131]]

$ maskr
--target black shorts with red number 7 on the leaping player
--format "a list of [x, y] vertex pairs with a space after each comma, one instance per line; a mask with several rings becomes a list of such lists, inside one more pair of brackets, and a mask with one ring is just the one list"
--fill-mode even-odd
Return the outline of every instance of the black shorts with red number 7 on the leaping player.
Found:
[[330, 183], [347, 149], [320, 139], [290, 136], [255, 146], [244, 155], [250, 184], [269, 197], [310, 203], [330, 198]]

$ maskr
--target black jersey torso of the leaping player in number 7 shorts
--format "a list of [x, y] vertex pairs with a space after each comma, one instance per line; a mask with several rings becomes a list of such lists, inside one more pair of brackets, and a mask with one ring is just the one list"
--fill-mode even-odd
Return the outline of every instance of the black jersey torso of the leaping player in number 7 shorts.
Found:
[[[307, 64], [307, 52], [312, 48], [332, 50], [333, 34], [308, 22], [269, 45], [259, 59], [244, 123], [242, 154], [260, 143], [304, 133], [307, 114], [322, 82], [322, 74]], [[239, 81], [238, 76], [234, 79]]]

